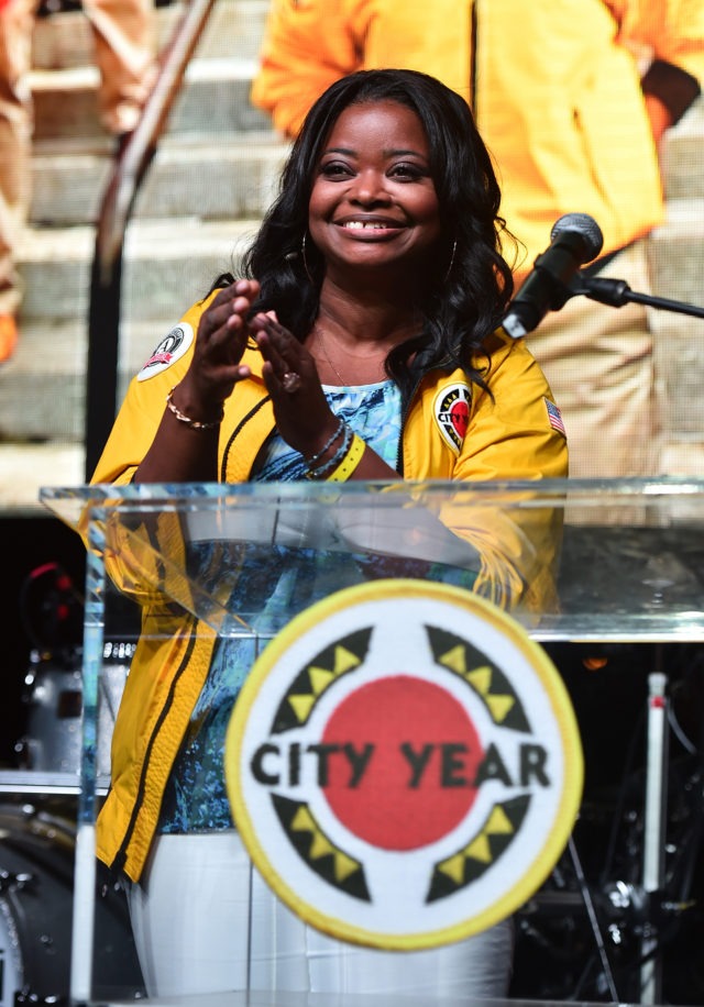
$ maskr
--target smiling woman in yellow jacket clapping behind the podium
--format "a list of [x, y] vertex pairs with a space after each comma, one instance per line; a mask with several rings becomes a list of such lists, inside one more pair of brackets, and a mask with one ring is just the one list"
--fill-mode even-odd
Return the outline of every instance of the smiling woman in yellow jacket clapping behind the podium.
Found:
[[[522, 342], [495, 332], [512, 294], [498, 206], [487, 151], [452, 91], [406, 70], [338, 81], [293, 147], [245, 278], [222, 279], [174, 330], [168, 359], [155, 353], [133, 380], [95, 480], [564, 476], [544, 378]], [[446, 421], [448, 396], [466, 405], [466, 430]], [[531, 543], [504, 562], [515, 571], [505, 578], [487, 541], [474, 539], [483, 593], [524, 590]], [[318, 558], [307, 562], [299, 579], [315, 577]], [[263, 617], [287, 573], [240, 578], [258, 590]], [[509, 923], [431, 952], [367, 951], [294, 920], [256, 875], [253, 916], [272, 945], [253, 949], [248, 978], [249, 868], [219, 767], [248, 659], [202, 628], [150, 637], [116, 724], [98, 840], [100, 857], [133, 883], [150, 993], [249, 982], [504, 995]]]

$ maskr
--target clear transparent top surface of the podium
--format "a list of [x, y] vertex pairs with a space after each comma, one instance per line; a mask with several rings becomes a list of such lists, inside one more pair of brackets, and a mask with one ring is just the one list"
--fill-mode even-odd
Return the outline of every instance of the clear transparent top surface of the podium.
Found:
[[[240, 558], [255, 551], [258, 564], [312, 551], [331, 557], [332, 574], [346, 564], [345, 577], [363, 556], [362, 580], [449, 577], [477, 593], [491, 568], [499, 604], [537, 639], [704, 640], [704, 479], [98, 485], [46, 487], [41, 500], [98, 555], [106, 527], [158, 552], [144, 530], [173, 516], [185, 556], [213, 542]], [[216, 601], [193, 562], [180, 573], [178, 604], [187, 596], [218, 632], [241, 631], [246, 613], [223, 605], [221, 583]], [[537, 612], [535, 591], [528, 606], [516, 585], [528, 596], [548, 578], [556, 598]]]

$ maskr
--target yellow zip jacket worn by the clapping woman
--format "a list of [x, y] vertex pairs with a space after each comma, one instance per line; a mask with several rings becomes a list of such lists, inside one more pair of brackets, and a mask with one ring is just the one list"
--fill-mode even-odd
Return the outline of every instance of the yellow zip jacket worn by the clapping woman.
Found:
[[[172, 386], [185, 374], [193, 339], [207, 301], [183, 319], [180, 356], [163, 369], [150, 365], [135, 377], [94, 475], [95, 483], [127, 483], [146, 453]], [[559, 478], [568, 474], [566, 443], [550, 422], [550, 390], [524, 341], [496, 333], [487, 341], [486, 381], [492, 395], [463, 372], [428, 373], [404, 421], [403, 472], [406, 479], [462, 483]], [[158, 359], [163, 361], [163, 356]], [[239, 384], [226, 402], [220, 434], [220, 480], [248, 480], [257, 452], [274, 429], [271, 402], [261, 377], [262, 358], [248, 351], [252, 378]], [[483, 355], [477, 364], [486, 366]], [[447, 411], [466, 390], [469, 425], [463, 441], [448, 431]], [[493, 398], [492, 398], [493, 396]], [[482, 557], [477, 590], [509, 607], [512, 599], [539, 609], [552, 604], [560, 514], [527, 509], [518, 522], [496, 507], [468, 508], [452, 530]], [[530, 522], [530, 527], [528, 525]], [[158, 542], [155, 552], [151, 543]], [[142, 634], [128, 676], [112, 741], [112, 787], [98, 820], [98, 854], [136, 881], [156, 829], [164, 787], [188, 720], [208, 674], [216, 632], [183, 610], [172, 611], [152, 586], [163, 577], [178, 582], [183, 565], [176, 516], [155, 516], [150, 535], [117, 524], [107, 529], [107, 564], [113, 579], [142, 605]], [[173, 566], [157, 569], [160, 555]], [[186, 583], [177, 590], [188, 591]]]

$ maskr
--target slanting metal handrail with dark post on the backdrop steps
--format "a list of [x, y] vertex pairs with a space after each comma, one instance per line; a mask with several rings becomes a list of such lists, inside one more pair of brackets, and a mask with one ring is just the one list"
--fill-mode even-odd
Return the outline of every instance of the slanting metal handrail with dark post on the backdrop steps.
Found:
[[84, 443], [90, 479], [114, 422], [118, 395], [120, 300], [124, 235], [134, 200], [166, 128], [188, 62], [215, 0], [189, 0], [160, 56], [160, 71], [138, 125], [118, 153], [96, 229], [88, 309], [88, 365]]

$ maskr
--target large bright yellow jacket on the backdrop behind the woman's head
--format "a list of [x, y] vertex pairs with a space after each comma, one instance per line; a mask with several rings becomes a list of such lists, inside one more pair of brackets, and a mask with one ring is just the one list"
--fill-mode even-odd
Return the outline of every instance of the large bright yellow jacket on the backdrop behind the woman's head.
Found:
[[502, 214], [526, 247], [520, 274], [565, 213], [598, 222], [604, 253], [662, 221], [646, 56], [695, 78], [676, 118], [704, 76], [702, 0], [273, 0], [252, 100], [295, 135], [353, 70], [440, 78], [470, 102], [492, 152]]

